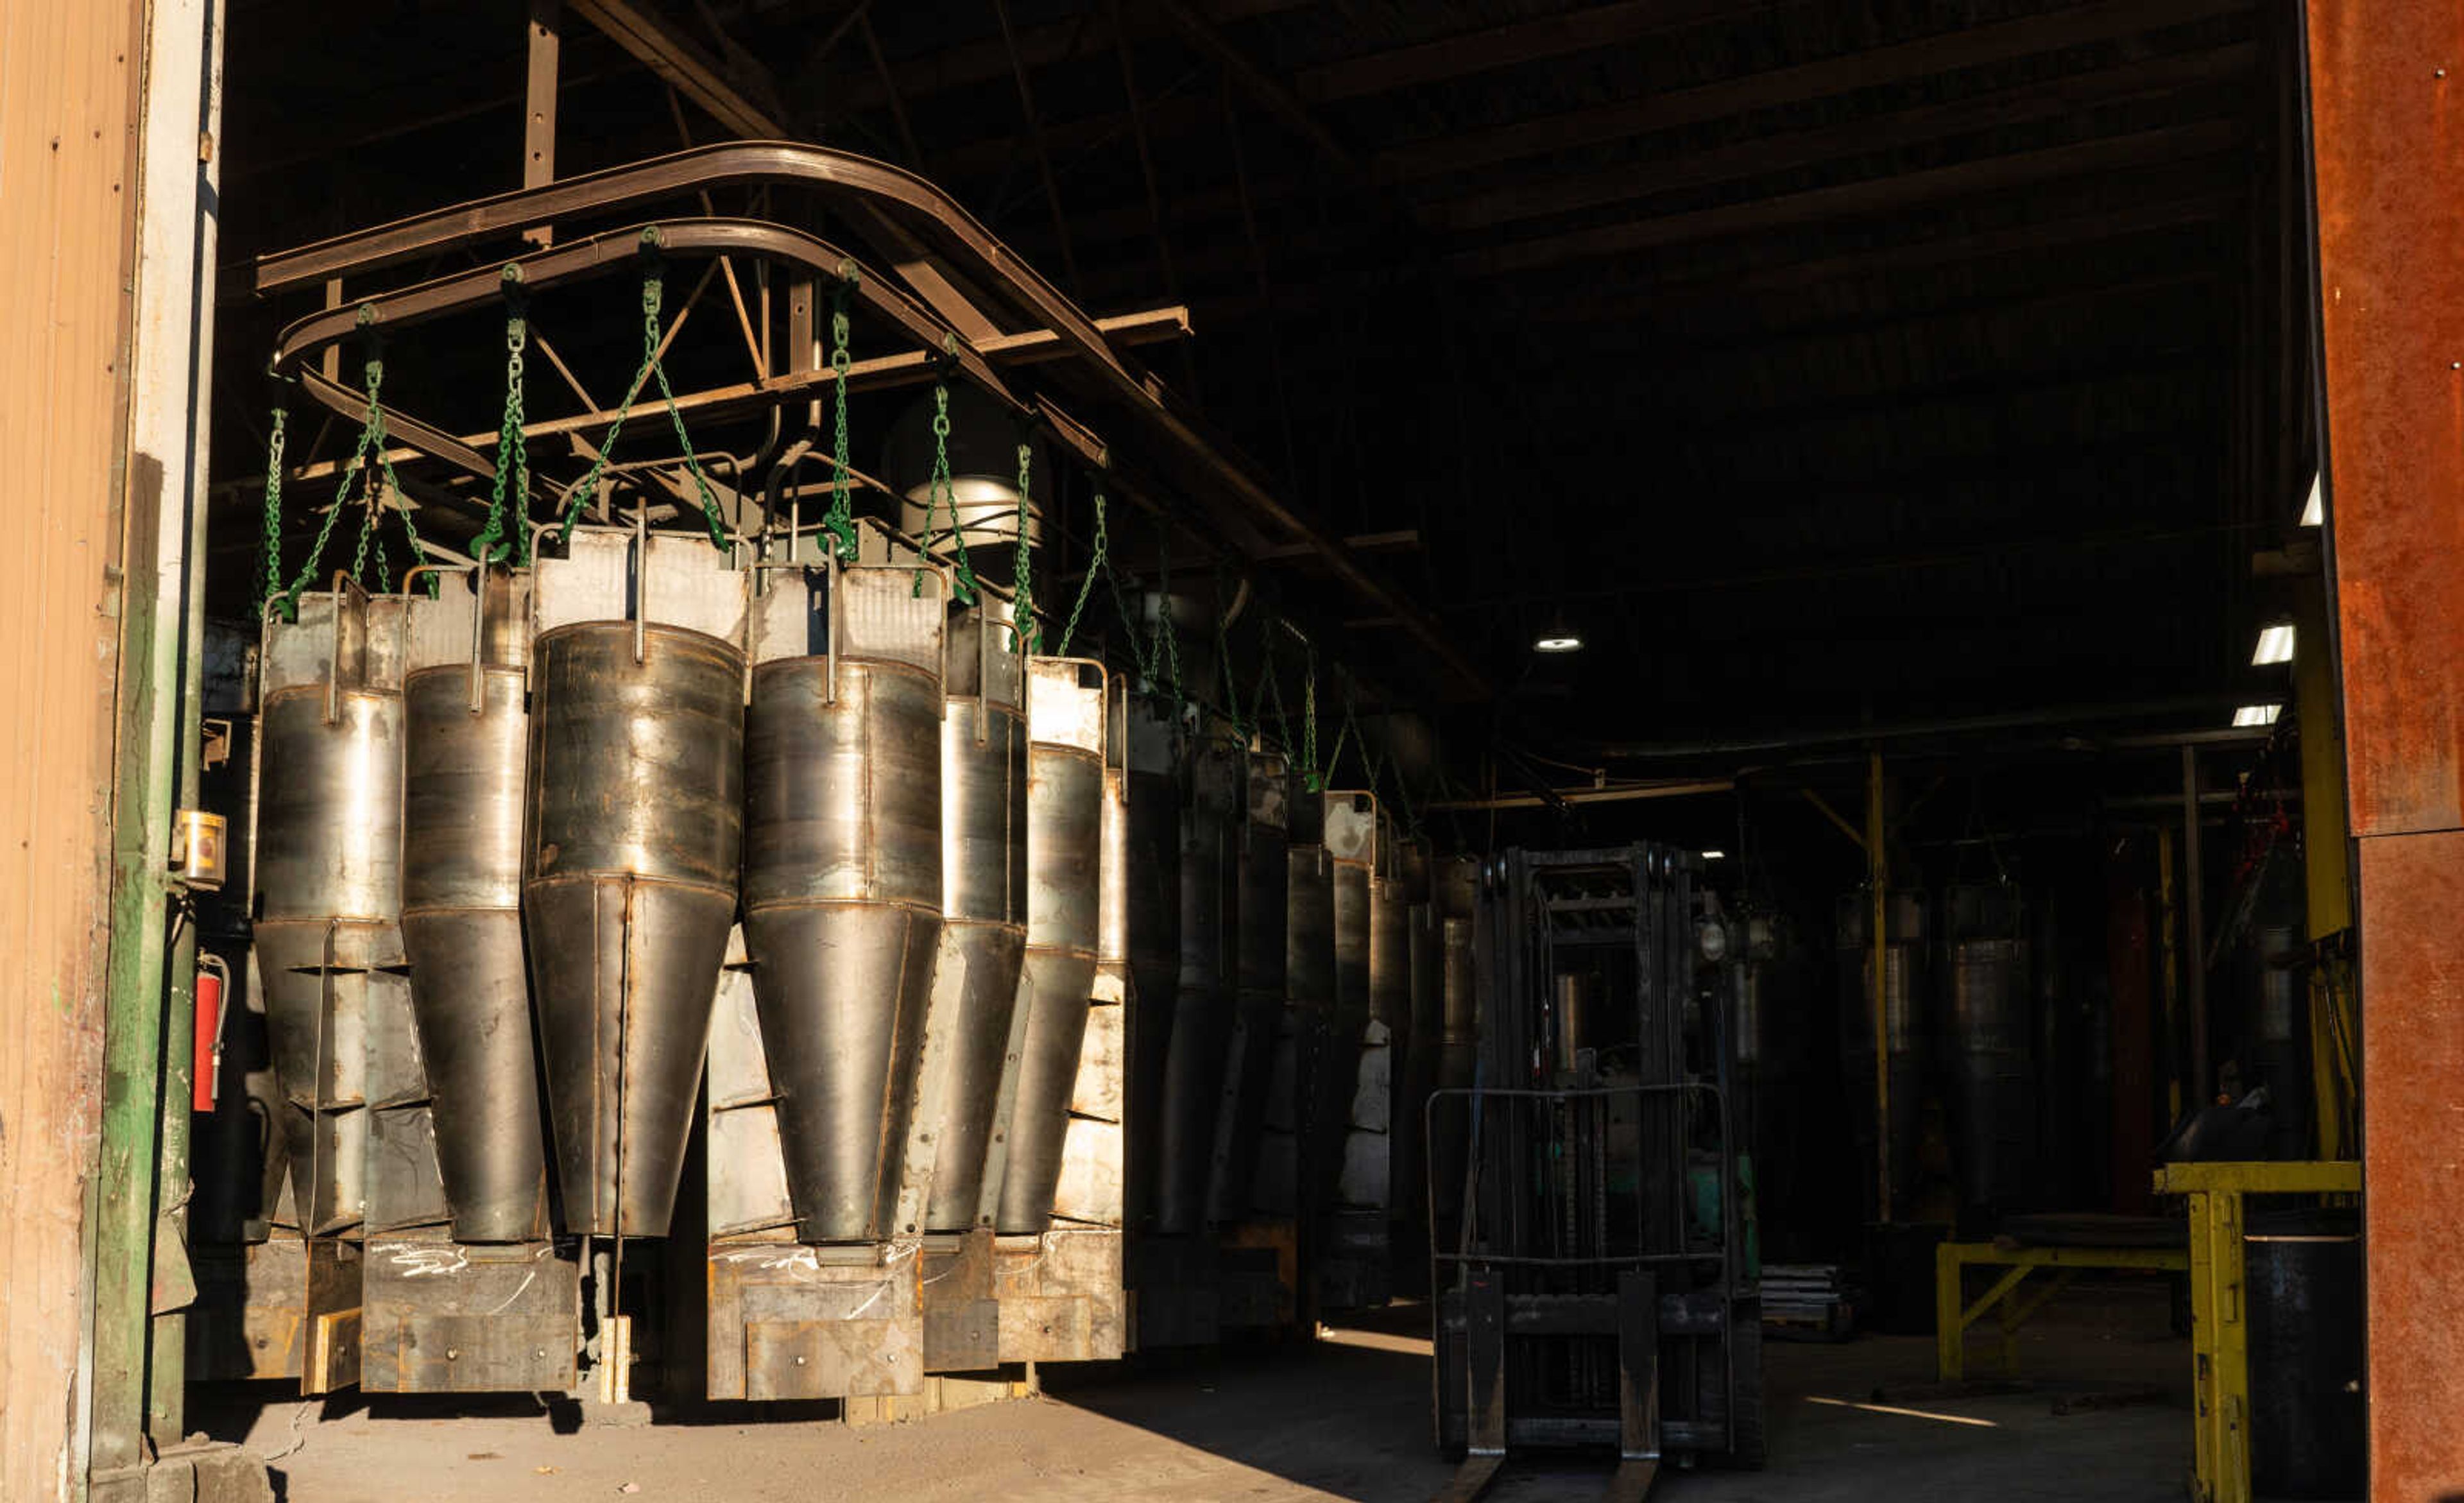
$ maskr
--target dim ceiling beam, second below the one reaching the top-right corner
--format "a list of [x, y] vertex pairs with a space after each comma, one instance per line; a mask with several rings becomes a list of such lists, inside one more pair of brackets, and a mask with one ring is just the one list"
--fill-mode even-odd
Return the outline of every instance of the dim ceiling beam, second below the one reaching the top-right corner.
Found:
[[1848, 219], [1855, 214], [1890, 214], [1939, 200], [1959, 200], [2003, 187], [2025, 187], [2060, 177], [2146, 168], [2154, 163], [2203, 158], [2232, 150], [2245, 138], [2242, 121], [2203, 121], [2195, 126], [2166, 126], [2161, 131], [2131, 131], [2075, 140], [2043, 150], [2023, 150], [1924, 172], [1900, 172], [1892, 177], [1868, 177], [1863, 182], [1838, 182], [1806, 192], [1786, 192], [1742, 205], [1720, 205], [1685, 214], [1658, 214], [1570, 229], [1538, 239], [1508, 241], [1476, 251], [1446, 256], [1451, 271], [1466, 276], [1506, 276], [1518, 271], [1550, 271], [1570, 261], [1624, 256], [1653, 246], [1717, 239], [1730, 234], [1757, 234], [1791, 224]]

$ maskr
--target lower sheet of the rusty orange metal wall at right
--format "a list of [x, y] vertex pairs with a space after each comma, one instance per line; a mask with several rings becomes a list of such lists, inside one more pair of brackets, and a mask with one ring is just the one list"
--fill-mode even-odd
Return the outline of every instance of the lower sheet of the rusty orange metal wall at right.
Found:
[[2464, 830], [2361, 843], [2370, 1496], [2464, 1493]]

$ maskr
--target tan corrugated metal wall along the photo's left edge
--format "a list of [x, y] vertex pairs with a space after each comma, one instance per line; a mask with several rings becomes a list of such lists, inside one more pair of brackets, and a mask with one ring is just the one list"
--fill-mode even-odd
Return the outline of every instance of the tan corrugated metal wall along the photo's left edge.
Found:
[[71, 1488], [143, 5], [0, 0], [0, 1501]]

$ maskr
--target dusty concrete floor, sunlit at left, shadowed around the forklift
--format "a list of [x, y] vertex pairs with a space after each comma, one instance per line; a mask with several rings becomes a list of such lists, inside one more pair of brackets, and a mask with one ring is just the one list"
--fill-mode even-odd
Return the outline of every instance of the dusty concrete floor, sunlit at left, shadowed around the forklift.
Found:
[[[872, 1429], [727, 1419], [557, 1434], [530, 1400], [320, 1407], [278, 1390], [200, 1395], [200, 1424], [281, 1454], [291, 1503], [1422, 1501], [1449, 1466], [1429, 1446], [1429, 1348], [1414, 1326], [1417, 1311], [1392, 1311], [1291, 1355], [1052, 1372], [1042, 1400]], [[1772, 1345], [1769, 1471], [1668, 1473], [1653, 1498], [2171, 1503], [2190, 1464], [2188, 1367], [2154, 1284], [2048, 1308], [2023, 1338], [2030, 1392], [1932, 1397], [1929, 1338]], [[2109, 1407], [2055, 1414], [2077, 1395]], [[1850, 1407], [1873, 1402], [1887, 1409]], [[1525, 1464], [1491, 1498], [1587, 1498], [1604, 1476], [1604, 1464]]]

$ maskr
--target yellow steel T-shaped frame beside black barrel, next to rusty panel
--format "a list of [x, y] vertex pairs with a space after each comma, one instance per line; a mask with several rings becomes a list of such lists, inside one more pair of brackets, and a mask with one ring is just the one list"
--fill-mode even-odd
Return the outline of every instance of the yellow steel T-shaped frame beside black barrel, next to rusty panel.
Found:
[[2158, 1195], [2190, 1200], [2193, 1503], [2250, 1503], [2250, 1311], [2242, 1303], [2245, 1195], [2356, 1195], [2361, 1165], [2168, 1163]]

